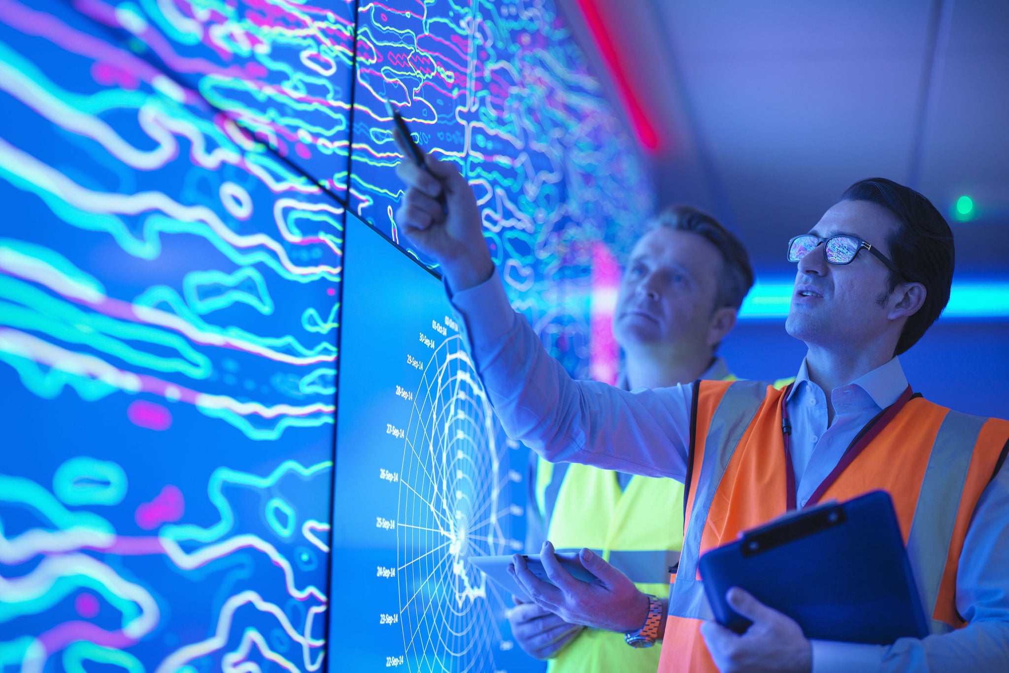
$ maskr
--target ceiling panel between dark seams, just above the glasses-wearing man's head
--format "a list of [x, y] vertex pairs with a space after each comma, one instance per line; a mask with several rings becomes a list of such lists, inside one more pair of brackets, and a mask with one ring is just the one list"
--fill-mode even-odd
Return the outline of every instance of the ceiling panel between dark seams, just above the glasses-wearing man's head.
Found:
[[759, 263], [856, 180], [907, 179], [917, 59], [698, 60], [682, 72], [722, 208]]

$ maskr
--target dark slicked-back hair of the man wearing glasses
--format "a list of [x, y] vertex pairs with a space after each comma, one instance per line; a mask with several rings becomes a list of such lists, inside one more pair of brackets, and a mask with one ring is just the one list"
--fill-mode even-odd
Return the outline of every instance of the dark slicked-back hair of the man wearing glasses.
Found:
[[840, 200], [883, 206], [900, 222], [887, 243], [890, 258], [903, 277], [890, 271], [884, 297], [901, 283], [920, 283], [925, 287], [924, 304], [907, 319], [897, 341], [893, 354], [900, 355], [921, 338], [949, 301], [956, 257], [952, 231], [928, 199], [885, 178], [860, 180], [845, 191]]

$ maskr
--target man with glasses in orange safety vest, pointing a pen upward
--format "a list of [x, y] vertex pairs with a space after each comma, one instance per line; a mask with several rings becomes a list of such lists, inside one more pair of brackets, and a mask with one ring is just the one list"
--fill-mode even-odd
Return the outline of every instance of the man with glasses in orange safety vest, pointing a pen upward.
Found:
[[[538, 603], [567, 622], [643, 636], [638, 643], [664, 634], [660, 671], [1009, 670], [1009, 422], [914, 396], [897, 358], [938, 318], [952, 279], [952, 234], [924, 197], [862, 181], [789, 242], [798, 266], [786, 330], [808, 347], [794, 384], [626, 391], [572, 380], [547, 355], [508, 305], [465, 181], [448, 164], [429, 167], [433, 176], [399, 169], [410, 189], [398, 220], [442, 263], [509, 434], [549, 461], [670, 477], [687, 489], [667, 613], [589, 550], [581, 561], [600, 584], [574, 579], [549, 542], [541, 556], [553, 584], [516, 557], [517, 579]], [[433, 198], [442, 191], [447, 216]], [[810, 642], [740, 589], [726, 599], [750, 629], [738, 636], [711, 621], [696, 573], [703, 551], [788, 510], [875, 489], [894, 499], [931, 637]]]

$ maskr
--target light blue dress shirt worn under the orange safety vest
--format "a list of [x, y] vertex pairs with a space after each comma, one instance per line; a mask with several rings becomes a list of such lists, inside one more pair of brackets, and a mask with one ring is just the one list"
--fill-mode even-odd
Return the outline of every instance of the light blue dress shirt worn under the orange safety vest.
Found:
[[[511, 308], [496, 276], [451, 298], [477, 371], [504, 430], [552, 462], [646, 476], [686, 477], [690, 385], [622, 390], [573, 380]], [[786, 402], [792, 418], [796, 500], [805, 502], [858, 431], [907, 386], [896, 358], [825, 392], [805, 361]], [[678, 524], [678, 522], [677, 522]], [[957, 573], [964, 629], [891, 646], [813, 641], [814, 673], [1009, 671], [1009, 469], [981, 495]]]

